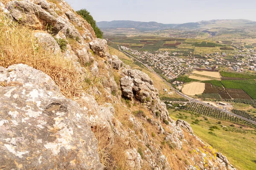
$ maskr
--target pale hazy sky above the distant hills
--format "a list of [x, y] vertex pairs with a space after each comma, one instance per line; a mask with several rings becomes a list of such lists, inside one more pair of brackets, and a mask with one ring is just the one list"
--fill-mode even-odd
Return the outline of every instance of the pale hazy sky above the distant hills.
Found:
[[99, 21], [189, 23], [214, 19], [256, 21], [256, 0], [66, 0]]

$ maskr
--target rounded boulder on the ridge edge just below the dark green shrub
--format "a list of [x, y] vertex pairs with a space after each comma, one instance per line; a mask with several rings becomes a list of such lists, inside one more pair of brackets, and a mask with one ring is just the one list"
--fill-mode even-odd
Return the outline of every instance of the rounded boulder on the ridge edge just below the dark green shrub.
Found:
[[100, 57], [108, 56], [108, 45], [106, 40], [98, 38], [93, 40], [89, 44], [94, 54], [99, 55]]

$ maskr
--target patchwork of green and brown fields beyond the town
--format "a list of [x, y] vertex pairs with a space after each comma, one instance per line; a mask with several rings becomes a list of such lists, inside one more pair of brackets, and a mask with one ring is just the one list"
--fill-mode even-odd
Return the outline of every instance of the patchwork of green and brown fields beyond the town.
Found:
[[[198, 34], [198, 33], [197, 33]], [[179, 56], [196, 56], [202, 57], [202, 54], [213, 53], [219, 51], [220, 47], [225, 48], [224, 51], [230, 49], [225, 44], [218, 44], [211, 40], [200, 40], [192, 38], [169, 38], [157, 34], [155, 36], [149, 34], [138, 34], [136, 36], [127, 36], [126, 34], [105, 34], [104, 39], [117, 45], [122, 45], [134, 50], [140, 51], [171, 51], [179, 53]], [[163, 37], [160, 37], [163, 36]], [[229, 50], [231, 51], [231, 50]]]

